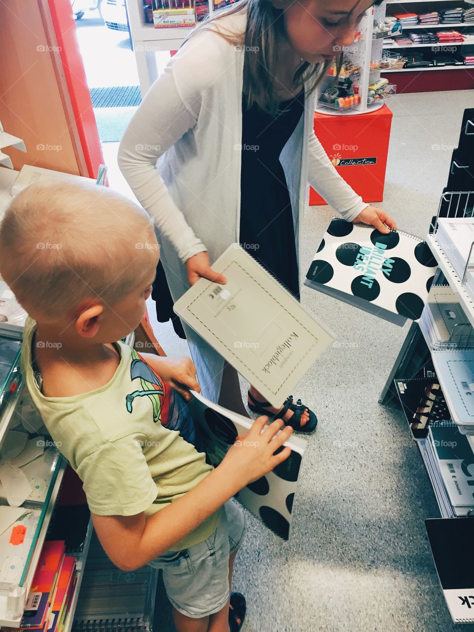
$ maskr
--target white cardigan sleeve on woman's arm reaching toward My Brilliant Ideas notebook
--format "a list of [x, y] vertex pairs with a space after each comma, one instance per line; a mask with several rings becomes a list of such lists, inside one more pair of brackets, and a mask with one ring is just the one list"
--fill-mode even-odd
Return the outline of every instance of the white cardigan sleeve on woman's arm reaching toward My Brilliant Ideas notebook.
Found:
[[313, 129], [309, 140], [308, 183], [349, 222], [368, 207], [337, 173]]

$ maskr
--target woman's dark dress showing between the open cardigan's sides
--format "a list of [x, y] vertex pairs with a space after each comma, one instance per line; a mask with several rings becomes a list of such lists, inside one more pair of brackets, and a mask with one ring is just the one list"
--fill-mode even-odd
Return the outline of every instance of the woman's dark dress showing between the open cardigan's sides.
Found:
[[240, 243], [300, 300], [295, 229], [279, 155], [304, 110], [304, 91], [277, 116], [242, 101]]

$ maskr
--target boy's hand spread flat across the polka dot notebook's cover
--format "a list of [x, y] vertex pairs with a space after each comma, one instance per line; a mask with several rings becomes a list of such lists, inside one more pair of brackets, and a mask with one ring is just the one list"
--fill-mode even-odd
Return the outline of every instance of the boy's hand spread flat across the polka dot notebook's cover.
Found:
[[277, 434], [283, 427], [283, 420], [278, 419], [265, 428], [267, 422], [267, 416], [258, 417], [245, 437], [237, 438], [219, 465], [219, 468], [226, 468], [228, 474], [235, 477], [238, 489], [261, 478], [291, 454], [289, 447], [284, 447], [276, 455], [274, 453], [288, 440], [293, 428], [286, 426]]

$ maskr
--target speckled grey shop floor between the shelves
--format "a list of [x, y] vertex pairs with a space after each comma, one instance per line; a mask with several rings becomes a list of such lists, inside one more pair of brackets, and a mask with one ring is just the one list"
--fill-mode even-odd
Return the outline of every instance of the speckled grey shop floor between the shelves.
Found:
[[[473, 92], [398, 95], [384, 202], [399, 228], [424, 236], [447, 180], [465, 107]], [[112, 149], [112, 148], [111, 148]], [[305, 217], [306, 271], [333, 212]], [[250, 516], [234, 588], [246, 595], [243, 632], [448, 632], [424, 520], [439, 511], [415, 442], [396, 403], [377, 403], [408, 325], [400, 328], [303, 289], [303, 303], [337, 334], [295, 394], [319, 416], [308, 439], [284, 543]], [[150, 305], [152, 312], [152, 305]], [[186, 343], [155, 324], [169, 355]], [[242, 392], [246, 384], [242, 381]], [[174, 629], [157, 604], [156, 632]], [[474, 626], [464, 626], [466, 632]]]

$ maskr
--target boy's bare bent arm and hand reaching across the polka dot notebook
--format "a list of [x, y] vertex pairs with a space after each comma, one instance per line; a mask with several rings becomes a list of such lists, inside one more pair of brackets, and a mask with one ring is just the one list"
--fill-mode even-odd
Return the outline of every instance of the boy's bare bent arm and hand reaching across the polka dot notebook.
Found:
[[209, 518], [238, 490], [257, 480], [288, 458], [283, 445], [292, 432], [281, 420], [265, 425], [259, 417], [243, 441], [231, 446], [221, 465], [196, 487], [152, 516], [99, 516], [92, 514], [94, 528], [107, 556], [118, 568], [133, 571], [166, 553], [176, 542]]

